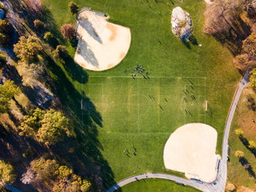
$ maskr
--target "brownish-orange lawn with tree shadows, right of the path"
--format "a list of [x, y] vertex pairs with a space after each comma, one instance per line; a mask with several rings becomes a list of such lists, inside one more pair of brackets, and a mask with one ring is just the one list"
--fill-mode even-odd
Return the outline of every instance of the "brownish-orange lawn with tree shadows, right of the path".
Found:
[[233, 122], [230, 129], [230, 138], [229, 138], [229, 146], [230, 146], [230, 162], [228, 163], [228, 179], [229, 182], [233, 183], [234, 186], [246, 186], [251, 189], [254, 189], [255, 179], [250, 176], [247, 170], [243, 168], [238, 158], [234, 156], [234, 152], [236, 150], [242, 150], [244, 152], [244, 157], [250, 163], [252, 170], [255, 170], [256, 162], [254, 154], [250, 152], [242, 144], [238, 135], [234, 133], [234, 130], [238, 128], [242, 128], [244, 131], [244, 137], [250, 141], [254, 140], [256, 142], [255, 129], [256, 125], [252, 122], [252, 119], [255, 119], [255, 112], [250, 110], [247, 107], [246, 97], [251, 95], [254, 100], [256, 100], [256, 94], [251, 89], [244, 89], [241, 95], [241, 98], [238, 102], [238, 108], [236, 113], [234, 114]]

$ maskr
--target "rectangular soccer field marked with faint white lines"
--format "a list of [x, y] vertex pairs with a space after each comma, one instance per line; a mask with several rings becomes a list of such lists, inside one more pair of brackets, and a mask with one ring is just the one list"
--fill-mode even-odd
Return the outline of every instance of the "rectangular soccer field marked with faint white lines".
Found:
[[[186, 123], [206, 122], [206, 78], [90, 77], [82, 90], [108, 134], [170, 134]], [[88, 109], [82, 101], [82, 116]]]

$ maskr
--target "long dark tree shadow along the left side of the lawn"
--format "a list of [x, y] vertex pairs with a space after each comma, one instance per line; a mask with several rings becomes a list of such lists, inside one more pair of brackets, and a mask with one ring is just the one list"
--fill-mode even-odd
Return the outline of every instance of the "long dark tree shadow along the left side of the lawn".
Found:
[[[70, 155], [63, 151], [67, 142], [60, 142], [57, 146], [51, 147], [51, 150], [60, 159], [66, 159], [67, 162], [70, 162], [79, 174], [86, 175], [94, 180], [99, 191], [106, 190], [114, 185], [115, 181], [114, 173], [100, 151], [103, 150], [101, 143], [98, 141], [98, 127], [102, 126], [101, 114], [98, 113], [90, 98], [74, 88], [52, 58], [47, 57], [46, 60], [48, 61], [48, 69], [56, 77], [55, 86], [52, 85], [52, 89], [58, 92], [62, 103], [66, 107], [66, 112], [74, 120], [73, 124], [77, 135], [72, 141], [69, 140], [70, 146], [75, 148], [74, 154]], [[85, 75], [83, 83], [87, 81], [88, 75]], [[85, 102], [89, 108], [81, 107], [81, 101]]]

